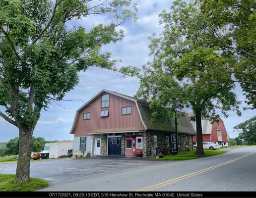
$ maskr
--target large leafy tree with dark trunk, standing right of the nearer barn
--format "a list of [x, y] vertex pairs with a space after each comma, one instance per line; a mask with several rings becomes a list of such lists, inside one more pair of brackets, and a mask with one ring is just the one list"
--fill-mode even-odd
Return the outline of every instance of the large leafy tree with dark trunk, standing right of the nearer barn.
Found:
[[[197, 154], [203, 155], [201, 117], [218, 120], [216, 109], [225, 116], [228, 110], [239, 111], [234, 93], [235, 82], [229, 68], [236, 58], [219, 47], [205, 42], [207, 28], [193, 3], [176, 0], [171, 12], [163, 10], [160, 37], [150, 37], [152, 62], [143, 67], [137, 96], [151, 99], [153, 119], [172, 116], [175, 109], [192, 108], [196, 121]], [[165, 110], [162, 106], [166, 106]], [[154, 121], [154, 120], [153, 120]]]

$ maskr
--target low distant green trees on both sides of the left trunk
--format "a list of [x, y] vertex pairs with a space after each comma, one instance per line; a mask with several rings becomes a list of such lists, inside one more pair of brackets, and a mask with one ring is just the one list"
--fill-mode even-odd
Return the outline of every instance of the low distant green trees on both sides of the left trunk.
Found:
[[[55, 142], [58, 142], [58, 140], [46, 141], [43, 137], [36, 138], [33, 136], [31, 150], [32, 151], [41, 151], [44, 149], [44, 146], [46, 143], [55, 143]], [[0, 148], [0, 156], [18, 154], [18, 152], [19, 152], [19, 137], [11, 139], [7, 143], [2, 143], [2, 145], [4, 145], [4, 144], [6, 146]]]

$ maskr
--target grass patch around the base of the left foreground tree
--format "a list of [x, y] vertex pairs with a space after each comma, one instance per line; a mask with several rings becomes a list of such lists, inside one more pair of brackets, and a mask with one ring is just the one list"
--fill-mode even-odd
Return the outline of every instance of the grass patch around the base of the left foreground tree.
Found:
[[14, 184], [14, 178], [15, 175], [0, 174], [0, 191], [36, 191], [48, 186], [48, 182], [33, 177], [27, 183]]

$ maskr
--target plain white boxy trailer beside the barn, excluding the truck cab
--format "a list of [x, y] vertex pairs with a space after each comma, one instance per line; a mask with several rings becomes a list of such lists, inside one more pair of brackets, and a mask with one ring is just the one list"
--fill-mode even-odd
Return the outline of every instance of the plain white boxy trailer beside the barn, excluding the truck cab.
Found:
[[61, 155], [67, 156], [67, 150], [74, 148], [74, 141], [59, 141], [50, 143], [49, 158], [59, 158]]

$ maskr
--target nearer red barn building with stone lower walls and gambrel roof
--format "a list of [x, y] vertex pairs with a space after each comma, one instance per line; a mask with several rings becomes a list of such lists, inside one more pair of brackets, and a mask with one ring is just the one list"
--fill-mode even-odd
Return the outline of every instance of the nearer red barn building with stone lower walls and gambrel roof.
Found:
[[[149, 156], [164, 149], [193, 148], [195, 131], [188, 116], [167, 123], [151, 123], [148, 104], [116, 92], [102, 90], [76, 111], [70, 134], [73, 155]], [[177, 140], [177, 141], [176, 141]]]

